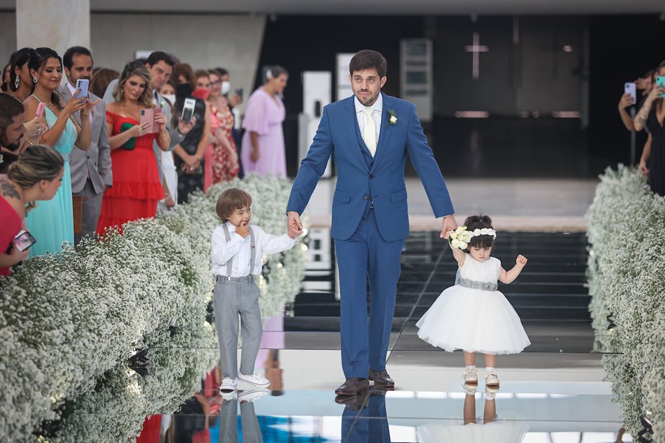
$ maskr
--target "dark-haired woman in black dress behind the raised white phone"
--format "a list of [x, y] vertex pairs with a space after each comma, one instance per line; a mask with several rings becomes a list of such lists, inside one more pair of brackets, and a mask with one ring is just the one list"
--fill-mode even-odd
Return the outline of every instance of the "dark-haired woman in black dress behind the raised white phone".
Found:
[[171, 78], [178, 82], [175, 90], [174, 122], [182, 114], [186, 98], [194, 98], [194, 118], [196, 123], [183, 141], [177, 145], [175, 167], [178, 172], [178, 203], [187, 201], [191, 192], [203, 189], [202, 161], [210, 144], [210, 107], [206, 99], [210, 92], [208, 71], [197, 71], [195, 75], [188, 64], [173, 66]]

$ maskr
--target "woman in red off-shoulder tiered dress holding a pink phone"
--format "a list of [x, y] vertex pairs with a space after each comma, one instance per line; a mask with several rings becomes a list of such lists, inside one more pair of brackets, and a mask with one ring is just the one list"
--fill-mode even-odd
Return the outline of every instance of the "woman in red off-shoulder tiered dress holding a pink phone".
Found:
[[127, 64], [114, 91], [116, 101], [106, 107], [113, 187], [104, 194], [98, 234], [127, 221], [154, 217], [157, 202], [164, 198], [152, 145], [157, 141], [166, 151], [170, 136], [163, 114], [154, 117], [157, 133], [150, 132], [152, 121], [140, 123], [141, 109], [154, 108], [148, 84], [150, 73], [143, 64]]

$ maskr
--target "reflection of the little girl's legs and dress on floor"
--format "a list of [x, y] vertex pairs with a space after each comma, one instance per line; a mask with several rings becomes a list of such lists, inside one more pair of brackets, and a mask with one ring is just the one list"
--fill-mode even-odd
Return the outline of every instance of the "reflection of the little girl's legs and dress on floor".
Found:
[[497, 415], [496, 390], [487, 388], [483, 417], [476, 417], [476, 388], [464, 385], [463, 424], [429, 423], [418, 426], [418, 442], [520, 443], [529, 426]]

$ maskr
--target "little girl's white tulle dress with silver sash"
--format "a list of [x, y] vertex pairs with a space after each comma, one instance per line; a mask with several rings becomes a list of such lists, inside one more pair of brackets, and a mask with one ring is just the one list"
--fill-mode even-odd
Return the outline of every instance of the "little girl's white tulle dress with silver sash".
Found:
[[467, 254], [459, 282], [445, 289], [416, 323], [418, 336], [448, 352], [522, 352], [531, 341], [511, 303], [496, 290], [500, 272], [495, 257], [479, 262]]

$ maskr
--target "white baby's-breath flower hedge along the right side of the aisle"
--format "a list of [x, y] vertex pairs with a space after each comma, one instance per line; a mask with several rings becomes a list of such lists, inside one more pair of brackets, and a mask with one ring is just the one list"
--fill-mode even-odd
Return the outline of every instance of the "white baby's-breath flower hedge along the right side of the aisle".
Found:
[[633, 436], [639, 418], [665, 441], [665, 198], [635, 170], [601, 175], [587, 214], [596, 350]]

